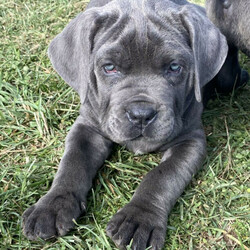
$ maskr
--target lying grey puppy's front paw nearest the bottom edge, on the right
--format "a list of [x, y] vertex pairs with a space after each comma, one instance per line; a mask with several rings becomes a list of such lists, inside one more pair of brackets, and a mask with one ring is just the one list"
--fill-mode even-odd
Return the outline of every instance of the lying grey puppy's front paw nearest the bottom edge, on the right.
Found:
[[132, 249], [161, 249], [166, 236], [167, 216], [147, 206], [126, 205], [113, 216], [107, 235], [120, 249], [126, 249], [133, 239]]

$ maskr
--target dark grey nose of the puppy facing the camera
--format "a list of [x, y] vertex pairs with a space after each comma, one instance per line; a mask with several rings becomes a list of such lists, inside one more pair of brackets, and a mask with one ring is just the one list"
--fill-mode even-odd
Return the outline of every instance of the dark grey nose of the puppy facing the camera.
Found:
[[131, 123], [145, 127], [155, 120], [157, 112], [151, 106], [133, 105], [126, 113]]

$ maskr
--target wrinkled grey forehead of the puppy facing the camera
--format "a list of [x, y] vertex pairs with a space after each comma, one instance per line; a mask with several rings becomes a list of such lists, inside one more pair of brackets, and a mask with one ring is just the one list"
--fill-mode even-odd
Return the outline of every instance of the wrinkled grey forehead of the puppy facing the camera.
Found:
[[162, 17], [145, 6], [132, 7], [129, 13], [109, 14], [106, 29], [95, 37], [95, 50], [100, 51], [100, 56], [133, 58], [138, 63], [191, 57], [188, 32], [173, 10]]

